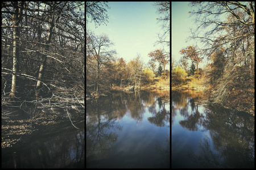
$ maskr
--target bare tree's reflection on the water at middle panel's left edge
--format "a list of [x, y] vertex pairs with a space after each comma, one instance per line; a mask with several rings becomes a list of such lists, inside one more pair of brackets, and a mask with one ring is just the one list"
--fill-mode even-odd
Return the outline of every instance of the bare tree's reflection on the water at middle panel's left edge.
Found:
[[90, 109], [93, 112], [86, 112], [89, 115], [94, 113], [94, 116], [86, 118], [86, 162], [105, 158], [118, 138], [110, 129], [122, 130], [115, 124], [116, 117], [100, 109], [98, 100], [93, 108]]

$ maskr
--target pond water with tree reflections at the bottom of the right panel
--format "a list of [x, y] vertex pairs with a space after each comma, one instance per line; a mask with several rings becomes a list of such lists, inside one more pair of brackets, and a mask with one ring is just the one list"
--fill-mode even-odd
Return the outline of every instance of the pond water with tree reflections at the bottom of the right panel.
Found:
[[254, 117], [172, 91], [172, 168], [254, 168]]

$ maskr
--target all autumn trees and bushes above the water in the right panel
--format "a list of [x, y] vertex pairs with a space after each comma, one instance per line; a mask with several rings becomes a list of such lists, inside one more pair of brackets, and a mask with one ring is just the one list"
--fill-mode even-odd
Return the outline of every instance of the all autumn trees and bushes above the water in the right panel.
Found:
[[[191, 2], [190, 6], [196, 7], [189, 13], [199, 25], [190, 39], [203, 48], [179, 49], [180, 60], [172, 59], [172, 89], [202, 90], [201, 103], [254, 115], [254, 2]], [[204, 59], [207, 63], [200, 68]]]

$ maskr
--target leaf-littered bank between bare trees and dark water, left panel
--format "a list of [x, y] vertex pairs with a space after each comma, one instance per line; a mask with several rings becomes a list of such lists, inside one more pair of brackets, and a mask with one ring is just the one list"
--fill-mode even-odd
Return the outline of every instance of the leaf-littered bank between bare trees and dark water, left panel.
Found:
[[[68, 112], [63, 108], [58, 112], [53, 109], [55, 107], [2, 107], [2, 148], [29, 143], [32, 134], [42, 133], [43, 129], [49, 132], [53, 129], [64, 130], [74, 128], [84, 121], [84, 113], [75, 109], [70, 108]], [[66, 126], [63, 126], [64, 123]]]

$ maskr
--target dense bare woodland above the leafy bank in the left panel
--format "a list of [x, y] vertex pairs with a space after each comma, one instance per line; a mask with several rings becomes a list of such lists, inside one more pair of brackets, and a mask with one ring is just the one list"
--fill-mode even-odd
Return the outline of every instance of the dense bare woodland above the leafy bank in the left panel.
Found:
[[84, 2], [2, 2], [2, 105], [84, 98]]

